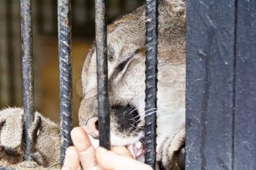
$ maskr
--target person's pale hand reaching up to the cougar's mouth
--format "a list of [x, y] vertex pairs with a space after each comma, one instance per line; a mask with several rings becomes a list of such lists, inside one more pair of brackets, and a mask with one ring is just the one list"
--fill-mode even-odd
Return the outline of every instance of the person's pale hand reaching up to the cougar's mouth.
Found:
[[62, 170], [152, 170], [150, 166], [135, 161], [128, 150], [105, 150], [94, 147], [83, 128], [74, 128], [71, 132], [74, 146], [67, 148]]

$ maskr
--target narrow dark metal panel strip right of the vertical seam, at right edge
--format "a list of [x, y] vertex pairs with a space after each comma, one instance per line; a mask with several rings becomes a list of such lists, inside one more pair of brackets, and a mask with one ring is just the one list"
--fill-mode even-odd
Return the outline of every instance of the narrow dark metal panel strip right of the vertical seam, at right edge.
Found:
[[238, 1], [234, 170], [256, 169], [256, 1]]

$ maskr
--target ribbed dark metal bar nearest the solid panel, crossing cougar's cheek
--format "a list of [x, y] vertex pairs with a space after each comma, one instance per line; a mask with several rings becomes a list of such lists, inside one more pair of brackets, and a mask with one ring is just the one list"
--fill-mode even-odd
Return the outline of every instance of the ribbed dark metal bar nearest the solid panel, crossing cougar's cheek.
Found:
[[[146, 98], [145, 111], [157, 108], [157, 26], [158, 1], [146, 1]], [[157, 113], [145, 117], [145, 163], [155, 169]]]

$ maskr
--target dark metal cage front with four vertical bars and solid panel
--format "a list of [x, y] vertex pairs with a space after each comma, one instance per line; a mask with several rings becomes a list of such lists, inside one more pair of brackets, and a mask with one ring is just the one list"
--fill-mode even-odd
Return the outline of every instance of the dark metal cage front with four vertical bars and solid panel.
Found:
[[[159, 0], [160, 1], [160, 0]], [[34, 115], [31, 0], [20, 1], [24, 137]], [[146, 1], [146, 108], [157, 107], [157, 0]], [[71, 144], [72, 1], [58, 1], [61, 163]], [[99, 142], [110, 148], [106, 1], [95, 1]], [[187, 0], [187, 170], [256, 169], [256, 1]], [[146, 121], [145, 162], [155, 167], [157, 113]]]

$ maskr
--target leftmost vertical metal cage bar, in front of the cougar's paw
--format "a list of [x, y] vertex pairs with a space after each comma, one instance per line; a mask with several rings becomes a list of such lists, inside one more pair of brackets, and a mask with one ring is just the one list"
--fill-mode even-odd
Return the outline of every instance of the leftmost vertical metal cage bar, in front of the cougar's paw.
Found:
[[26, 161], [31, 161], [29, 127], [34, 119], [33, 46], [31, 23], [31, 0], [20, 0], [21, 47], [23, 63], [23, 107]]

